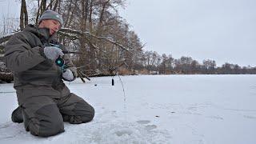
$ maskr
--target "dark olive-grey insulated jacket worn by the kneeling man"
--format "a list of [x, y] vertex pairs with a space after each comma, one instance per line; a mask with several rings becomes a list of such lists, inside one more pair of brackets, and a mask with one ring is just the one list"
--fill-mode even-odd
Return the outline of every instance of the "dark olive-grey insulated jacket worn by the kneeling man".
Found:
[[[43, 53], [43, 47], [50, 46], [50, 43], [59, 44], [54, 40], [54, 36], [50, 37], [50, 30], [32, 25], [26, 26], [22, 32], [10, 38], [5, 48], [5, 62], [7, 68], [14, 73], [14, 88], [63, 84], [62, 69]], [[62, 50], [65, 48], [62, 47]], [[63, 59], [66, 68], [70, 69], [76, 78], [77, 70], [69, 55], [64, 54]]]

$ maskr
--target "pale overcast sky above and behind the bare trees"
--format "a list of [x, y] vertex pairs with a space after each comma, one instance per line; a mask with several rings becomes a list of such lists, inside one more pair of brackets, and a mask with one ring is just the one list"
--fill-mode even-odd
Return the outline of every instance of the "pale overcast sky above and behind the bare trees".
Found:
[[[1, 14], [18, 17], [17, 2], [0, 0]], [[190, 56], [198, 62], [210, 58], [218, 66], [224, 62], [256, 66], [255, 0], [126, 0], [126, 3], [126, 9], [119, 13], [146, 43], [145, 50], [172, 54], [174, 58]]]

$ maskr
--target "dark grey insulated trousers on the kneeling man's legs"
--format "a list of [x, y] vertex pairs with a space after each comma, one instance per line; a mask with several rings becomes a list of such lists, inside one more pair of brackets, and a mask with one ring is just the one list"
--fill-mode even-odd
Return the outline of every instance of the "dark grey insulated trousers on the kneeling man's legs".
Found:
[[52, 136], [64, 131], [63, 122], [79, 124], [94, 118], [94, 108], [76, 94], [70, 93], [66, 86], [66, 90], [57, 90], [61, 97], [54, 96], [54, 89], [53, 95], [49, 95], [51, 89], [36, 88], [32, 89], [32, 93], [31, 89], [17, 90], [24, 126], [31, 134]]

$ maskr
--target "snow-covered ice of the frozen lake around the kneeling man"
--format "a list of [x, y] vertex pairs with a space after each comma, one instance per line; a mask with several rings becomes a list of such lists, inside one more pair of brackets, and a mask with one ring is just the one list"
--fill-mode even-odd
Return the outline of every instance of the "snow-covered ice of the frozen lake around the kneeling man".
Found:
[[34, 137], [11, 122], [16, 94], [13, 84], [0, 84], [0, 143], [256, 143], [256, 75], [121, 79], [66, 82], [94, 106], [95, 117], [80, 125], [65, 122], [66, 131], [50, 138]]

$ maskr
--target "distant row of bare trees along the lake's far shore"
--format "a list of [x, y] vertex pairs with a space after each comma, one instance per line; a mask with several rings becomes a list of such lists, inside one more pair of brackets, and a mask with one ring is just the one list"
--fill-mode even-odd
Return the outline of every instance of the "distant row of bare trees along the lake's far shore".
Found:
[[206, 59], [202, 63], [191, 57], [173, 58], [157, 52], [146, 51], [134, 66], [140, 74], [256, 74], [256, 67], [239, 66], [226, 62], [217, 66], [214, 60]]

